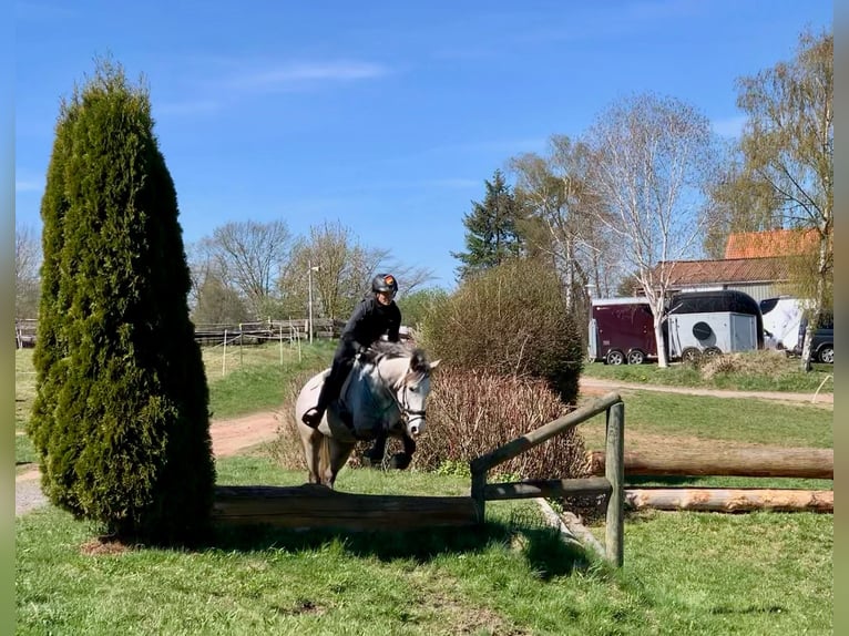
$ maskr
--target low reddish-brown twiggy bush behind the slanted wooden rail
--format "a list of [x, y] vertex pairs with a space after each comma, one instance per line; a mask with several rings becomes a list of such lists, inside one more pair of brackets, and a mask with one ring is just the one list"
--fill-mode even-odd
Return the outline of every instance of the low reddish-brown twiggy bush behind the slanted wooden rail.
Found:
[[[428, 398], [428, 429], [412, 465], [428, 471], [470, 462], [571, 410], [544, 380], [440, 369]], [[589, 474], [583, 440], [566, 431], [498, 466], [521, 479]]]

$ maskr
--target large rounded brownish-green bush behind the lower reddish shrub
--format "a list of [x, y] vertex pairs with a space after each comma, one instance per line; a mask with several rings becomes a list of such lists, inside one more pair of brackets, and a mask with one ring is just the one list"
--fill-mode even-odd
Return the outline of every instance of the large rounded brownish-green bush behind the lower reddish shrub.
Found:
[[467, 280], [427, 314], [421, 345], [456, 369], [539, 378], [575, 403], [583, 347], [556, 273], [515, 259]]

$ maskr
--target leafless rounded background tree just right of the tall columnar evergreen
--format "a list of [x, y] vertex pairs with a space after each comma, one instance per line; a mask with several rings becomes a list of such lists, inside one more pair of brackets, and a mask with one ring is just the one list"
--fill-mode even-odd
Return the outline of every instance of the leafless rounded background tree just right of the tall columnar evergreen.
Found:
[[205, 270], [214, 271], [226, 287], [237, 289], [254, 319], [274, 311], [277, 281], [287, 267], [290, 249], [291, 236], [283, 220], [231, 222], [215, 228], [200, 246]]

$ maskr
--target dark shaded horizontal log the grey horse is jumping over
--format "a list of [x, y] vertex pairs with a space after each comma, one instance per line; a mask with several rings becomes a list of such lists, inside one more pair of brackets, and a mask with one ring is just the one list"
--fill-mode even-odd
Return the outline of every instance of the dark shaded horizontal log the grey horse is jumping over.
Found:
[[352, 494], [323, 485], [216, 486], [213, 521], [286, 529], [421, 530], [478, 524], [469, 496]]

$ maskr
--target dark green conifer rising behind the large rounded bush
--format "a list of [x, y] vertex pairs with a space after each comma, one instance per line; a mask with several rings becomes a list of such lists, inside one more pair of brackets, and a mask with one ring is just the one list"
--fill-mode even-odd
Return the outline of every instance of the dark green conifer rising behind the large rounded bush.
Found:
[[457, 268], [459, 279], [501, 265], [520, 256], [524, 249], [524, 240], [516, 228], [522, 209], [504, 175], [497, 170], [492, 181], [484, 181], [484, 184], [483, 202], [472, 202], [471, 212], [463, 216], [467, 252], [451, 253], [462, 261]]

